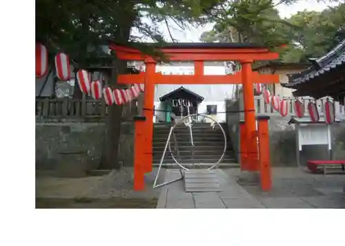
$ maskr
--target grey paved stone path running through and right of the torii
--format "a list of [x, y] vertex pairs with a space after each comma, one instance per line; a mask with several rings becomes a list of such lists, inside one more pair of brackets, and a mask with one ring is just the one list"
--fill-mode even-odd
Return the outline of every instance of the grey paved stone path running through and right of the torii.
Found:
[[[225, 172], [226, 173], [225, 173]], [[242, 187], [233, 169], [217, 169], [221, 192], [186, 193], [184, 180], [161, 187], [157, 208], [166, 209], [311, 209], [345, 208], [342, 192], [345, 176], [313, 176], [299, 169], [277, 169], [273, 189]], [[237, 170], [238, 172], [238, 170]], [[164, 180], [179, 177], [179, 171], [167, 169]]]

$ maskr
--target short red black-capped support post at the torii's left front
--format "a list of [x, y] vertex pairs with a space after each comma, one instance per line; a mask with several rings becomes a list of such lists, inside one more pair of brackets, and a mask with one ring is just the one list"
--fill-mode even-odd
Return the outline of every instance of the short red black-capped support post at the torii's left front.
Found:
[[142, 191], [145, 188], [144, 182], [144, 167], [145, 167], [145, 158], [144, 158], [144, 148], [145, 148], [145, 141], [144, 141], [144, 133], [145, 129], [145, 116], [136, 116], [134, 117], [135, 122], [135, 136], [134, 136], [134, 190], [135, 191]]

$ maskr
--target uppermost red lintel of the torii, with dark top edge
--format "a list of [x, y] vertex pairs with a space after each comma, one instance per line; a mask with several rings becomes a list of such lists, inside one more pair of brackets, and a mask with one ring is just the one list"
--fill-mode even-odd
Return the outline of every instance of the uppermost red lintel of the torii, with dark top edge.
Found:
[[[271, 53], [268, 48], [254, 44], [177, 43], [164, 46], [158, 46], [158, 44], [148, 45], [160, 50], [170, 61], [257, 61], [279, 58], [277, 53]], [[119, 59], [132, 61], [152, 59], [152, 57], [144, 55], [135, 48], [117, 44], [110, 44], [109, 47], [116, 50]]]

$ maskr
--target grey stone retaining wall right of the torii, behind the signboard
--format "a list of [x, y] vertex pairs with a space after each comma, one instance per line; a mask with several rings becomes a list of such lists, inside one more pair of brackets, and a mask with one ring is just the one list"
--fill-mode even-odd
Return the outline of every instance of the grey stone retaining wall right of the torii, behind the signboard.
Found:
[[[239, 160], [239, 111], [238, 102], [228, 101], [226, 104], [226, 121], [233, 148]], [[295, 125], [288, 125], [290, 117], [270, 116], [270, 160], [273, 167], [297, 165]], [[345, 122], [332, 126], [333, 159], [345, 160]], [[300, 163], [306, 165], [306, 160], [329, 160], [327, 146], [303, 146]]]

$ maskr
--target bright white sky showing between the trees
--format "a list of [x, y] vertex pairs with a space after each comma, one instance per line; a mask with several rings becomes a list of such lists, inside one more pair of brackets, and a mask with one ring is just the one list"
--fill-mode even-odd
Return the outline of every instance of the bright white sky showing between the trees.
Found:
[[[326, 2], [326, 3], [325, 3]], [[328, 3], [327, 1], [324, 2], [317, 2], [316, 0], [304, 0], [299, 1], [298, 3], [295, 3], [291, 6], [278, 6], [277, 9], [279, 11], [279, 15], [282, 18], [290, 17], [291, 15], [294, 15], [295, 13], [303, 10], [309, 10], [309, 11], [322, 11], [327, 6], [337, 6], [338, 3]], [[174, 26], [171, 23], [171, 26]], [[213, 28], [213, 24], [208, 24], [204, 28], [193, 28], [191, 27], [190, 30], [179, 30], [177, 26], [174, 26], [175, 28], [170, 28], [170, 31], [172, 32], [172, 37], [177, 39], [180, 42], [198, 42], [199, 37], [202, 32], [206, 30], [211, 30]], [[161, 26], [161, 31], [164, 32], [164, 35], [166, 36], [168, 41], [170, 40], [170, 36], [168, 35], [168, 30], [165, 25]]]

